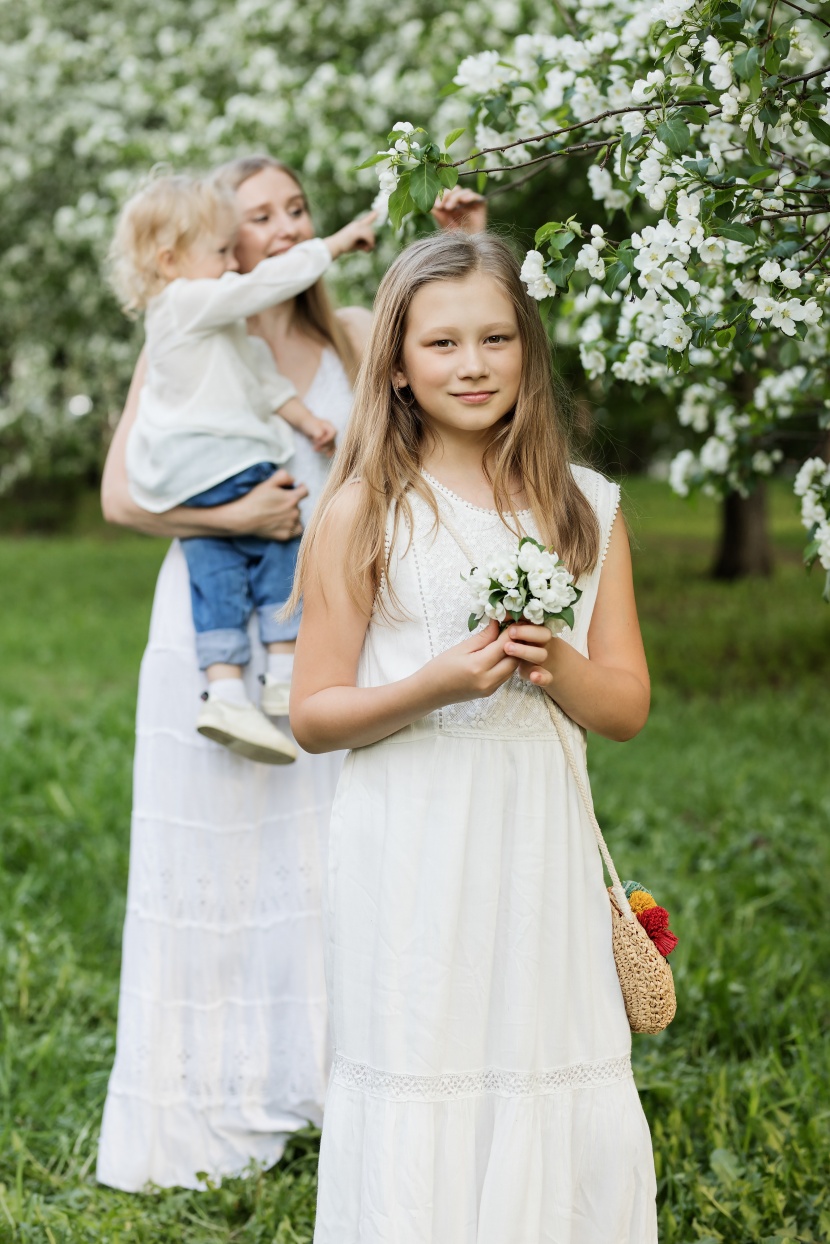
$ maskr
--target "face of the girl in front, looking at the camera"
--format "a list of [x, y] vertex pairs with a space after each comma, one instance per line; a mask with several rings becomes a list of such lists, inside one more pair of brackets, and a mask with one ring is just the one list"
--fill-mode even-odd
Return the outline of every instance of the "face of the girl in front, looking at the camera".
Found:
[[487, 272], [472, 272], [418, 290], [393, 381], [409, 386], [443, 437], [480, 435], [515, 406], [521, 353], [513, 302]]

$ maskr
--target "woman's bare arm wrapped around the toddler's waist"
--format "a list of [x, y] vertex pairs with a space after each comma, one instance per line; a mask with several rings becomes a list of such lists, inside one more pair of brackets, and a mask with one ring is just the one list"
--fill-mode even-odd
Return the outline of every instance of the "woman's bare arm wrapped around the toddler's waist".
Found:
[[[290, 488], [287, 471], [280, 470], [246, 496], [228, 505], [190, 509], [177, 505], [164, 514], [142, 510], [127, 485], [127, 437], [138, 412], [138, 394], [144, 383], [147, 360], [138, 357], [124, 413], [116, 428], [101, 479], [101, 509], [107, 522], [133, 527], [149, 536], [234, 536], [258, 535], [269, 540], [290, 540], [302, 530], [299, 501], [309, 495], [304, 484]], [[281, 486], [282, 485], [282, 486]], [[289, 485], [289, 486], [286, 486]]]

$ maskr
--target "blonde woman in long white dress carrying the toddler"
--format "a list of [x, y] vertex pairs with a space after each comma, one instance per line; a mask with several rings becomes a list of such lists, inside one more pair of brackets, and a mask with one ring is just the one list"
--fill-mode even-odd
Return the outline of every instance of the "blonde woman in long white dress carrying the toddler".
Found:
[[[277, 160], [235, 160], [221, 179], [241, 214], [240, 271], [314, 236], [302, 188]], [[464, 193], [442, 214], [443, 225], [475, 226], [483, 207]], [[249, 331], [311, 412], [342, 430], [370, 323], [361, 307], [335, 311], [317, 282]], [[139, 360], [105, 468], [108, 521], [167, 537], [296, 536], [326, 475], [305, 438], [290, 474], [230, 504], [149, 514], [131, 500], [124, 452], [143, 378]], [[249, 692], [264, 668], [253, 629]], [[234, 756], [192, 729], [203, 690], [175, 540], [139, 678], [117, 1050], [97, 1167], [102, 1183], [131, 1192], [276, 1162], [292, 1131], [320, 1122], [329, 1075], [321, 857], [341, 755], [300, 753], [281, 769]]]

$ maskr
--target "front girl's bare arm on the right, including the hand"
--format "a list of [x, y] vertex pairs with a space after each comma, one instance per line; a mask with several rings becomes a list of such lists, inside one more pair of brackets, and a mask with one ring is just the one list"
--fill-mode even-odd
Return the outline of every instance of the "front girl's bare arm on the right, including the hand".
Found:
[[510, 626], [506, 638], [504, 651], [520, 658], [521, 677], [543, 687], [579, 725], [621, 743], [642, 730], [648, 718], [651, 687], [637, 621], [628, 536], [620, 515], [611, 529], [591, 616], [590, 658], [564, 641], [551, 639], [545, 627]]

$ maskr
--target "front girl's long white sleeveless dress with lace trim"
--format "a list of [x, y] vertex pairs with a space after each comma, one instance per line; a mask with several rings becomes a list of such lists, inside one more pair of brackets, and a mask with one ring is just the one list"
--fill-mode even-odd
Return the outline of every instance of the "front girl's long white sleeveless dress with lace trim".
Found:
[[[618, 489], [574, 470], [605, 556]], [[428, 481], [477, 559], [515, 547], [494, 511]], [[372, 618], [363, 687], [468, 634], [469, 562], [412, 504], [412, 544], [404, 532], [389, 570], [407, 620]], [[600, 569], [566, 641], [584, 654]], [[543, 690], [514, 675], [348, 754], [326, 972], [335, 1055], [315, 1244], [655, 1244], [600, 855]]]

